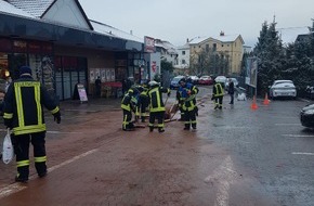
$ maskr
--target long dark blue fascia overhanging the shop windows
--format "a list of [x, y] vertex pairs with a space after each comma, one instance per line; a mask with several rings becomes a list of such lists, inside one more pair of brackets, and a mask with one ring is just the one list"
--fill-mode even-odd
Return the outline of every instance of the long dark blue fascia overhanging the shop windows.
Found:
[[143, 50], [143, 43], [120, 39], [93, 30], [81, 30], [10, 14], [0, 13], [0, 36], [9, 38], [51, 41], [55, 44], [109, 51]]

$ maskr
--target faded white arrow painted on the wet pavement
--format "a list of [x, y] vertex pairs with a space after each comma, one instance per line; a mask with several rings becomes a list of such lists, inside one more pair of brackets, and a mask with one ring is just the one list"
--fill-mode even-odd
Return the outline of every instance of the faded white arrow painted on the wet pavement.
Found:
[[205, 182], [217, 182], [214, 206], [228, 206], [230, 184], [234, 182], [238, 173], [234, 170], [231, 156], [227, 156], [223, 163], [214, 169], [213, 173], [205, 179]]

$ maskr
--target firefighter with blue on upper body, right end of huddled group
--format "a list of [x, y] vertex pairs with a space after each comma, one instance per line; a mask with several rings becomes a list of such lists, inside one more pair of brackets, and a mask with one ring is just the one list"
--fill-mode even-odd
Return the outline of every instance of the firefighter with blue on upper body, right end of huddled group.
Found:
[[198, 93], [198, 88], [185, 79], [181, 79], [180, 88], [176, 92], [176, 99], [180, 100], [182, 111], [184, 113], [184, 130], [189, 130], [191, 126], [196, 129], [196, 115], [198, 108], [196, 106], [196, 94]]

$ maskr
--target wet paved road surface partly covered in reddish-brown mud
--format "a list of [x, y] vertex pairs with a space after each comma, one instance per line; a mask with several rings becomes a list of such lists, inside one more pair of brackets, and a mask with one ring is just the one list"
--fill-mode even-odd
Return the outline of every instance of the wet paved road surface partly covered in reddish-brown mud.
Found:
[[0, 205], [314, 204], [314, 132], [299, 120], [306, 102], [258, 100], [252, 111], [226, 95], [214, 111], [210, 88], [198, 99], [197, 131], [172, 121], [162, 134], [122, 132], [119, 101], [64, 105], [62, 125], [47, 118], [49, 176], [32, 168], [27, 184], [13, 183], [14, 164], [0, 164]]

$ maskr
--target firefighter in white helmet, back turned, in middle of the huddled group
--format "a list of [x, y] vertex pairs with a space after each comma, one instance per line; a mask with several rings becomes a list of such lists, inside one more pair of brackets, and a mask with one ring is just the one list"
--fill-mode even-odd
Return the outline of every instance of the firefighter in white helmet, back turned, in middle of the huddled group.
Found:
[[148, 90], [148, 98], [149, 98], [149, 131], [154, 130], [155, 119], [158, 120], [158, 131], [163, 132], [165, 125], [165, 103], [162, 101], [162, 93], [167, 93], [168, 96], [170, 95], [170, 89], [166, 89], [159, 87], [157, 81], [149, 81], [149, 90]]

